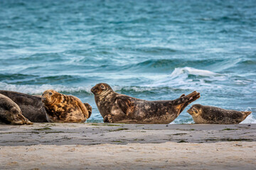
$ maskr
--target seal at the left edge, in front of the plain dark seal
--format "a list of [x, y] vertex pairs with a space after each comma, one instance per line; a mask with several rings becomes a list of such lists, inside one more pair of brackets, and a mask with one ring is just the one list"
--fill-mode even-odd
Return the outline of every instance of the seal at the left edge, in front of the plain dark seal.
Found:
[[21, 108], [3, 94], [0, 94], [0, 122], [14, 125], [33, 124], [22, 115]]

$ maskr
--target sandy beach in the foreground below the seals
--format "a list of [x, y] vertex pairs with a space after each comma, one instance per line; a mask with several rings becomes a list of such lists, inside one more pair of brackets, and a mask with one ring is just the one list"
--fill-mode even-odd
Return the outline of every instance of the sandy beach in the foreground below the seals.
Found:
[[0, 169], [255, 169], [256, 125], [0, 125]]

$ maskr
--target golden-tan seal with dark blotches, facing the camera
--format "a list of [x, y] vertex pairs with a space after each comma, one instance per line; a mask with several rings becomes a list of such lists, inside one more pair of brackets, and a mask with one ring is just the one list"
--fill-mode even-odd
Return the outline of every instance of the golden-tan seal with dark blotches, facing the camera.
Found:
[[90, 118], [92, 107], [82, 103], [75, 96], [60, 94], [54, 90], [46, 90], [42, 95], [48, 122], [82, 123]]

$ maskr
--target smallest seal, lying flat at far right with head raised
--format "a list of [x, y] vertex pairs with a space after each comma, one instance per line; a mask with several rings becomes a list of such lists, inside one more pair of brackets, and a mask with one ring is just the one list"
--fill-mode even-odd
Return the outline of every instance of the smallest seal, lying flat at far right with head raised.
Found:
[[251, 111], [233, 111], [195, 104], [187, 111], [195, 123], [204, 124], [238, 124], [252, 113]]

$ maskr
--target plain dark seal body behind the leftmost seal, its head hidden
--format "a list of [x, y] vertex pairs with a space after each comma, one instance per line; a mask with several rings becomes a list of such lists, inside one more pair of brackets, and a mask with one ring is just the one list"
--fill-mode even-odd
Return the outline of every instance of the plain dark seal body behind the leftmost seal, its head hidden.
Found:
[[10, 98], [21, 109], [22, 114], [34, 123], [44, 123], [46, 120], [46, 111], [43, 108], [41, 97], [28, 94], [21, 94], [16, 91], [1, 91], [0, 94]]

